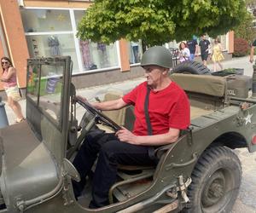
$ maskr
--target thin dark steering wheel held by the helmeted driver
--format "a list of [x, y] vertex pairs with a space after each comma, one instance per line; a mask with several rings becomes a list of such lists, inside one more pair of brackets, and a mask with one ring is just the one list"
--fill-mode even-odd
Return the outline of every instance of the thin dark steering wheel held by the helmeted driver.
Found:
[[121, 129], [119, 124], [116, 124], [112, 119], [108, 118], [102, 112], [98, 111], [95, 107], [92, 107], [89, 102], [84, 102], [80, 98], [76, 97], [76, 102], [79, 103], [82, 107], [84, 107], [88, 112], [96, 117], [96, 122], [98, 124], [104, 124], [111, 127], [114, 131], [118, 131]]

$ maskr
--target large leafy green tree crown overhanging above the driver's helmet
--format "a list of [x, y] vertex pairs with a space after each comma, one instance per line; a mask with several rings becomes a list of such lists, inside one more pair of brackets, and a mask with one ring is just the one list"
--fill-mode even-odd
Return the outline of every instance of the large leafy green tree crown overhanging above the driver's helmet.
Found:
[[78, 36], [102, 43], [142, 39], [148, 45], [204, 32], [216, 37], [246, 14], [244, 0], [95, 0], [79, 23]]

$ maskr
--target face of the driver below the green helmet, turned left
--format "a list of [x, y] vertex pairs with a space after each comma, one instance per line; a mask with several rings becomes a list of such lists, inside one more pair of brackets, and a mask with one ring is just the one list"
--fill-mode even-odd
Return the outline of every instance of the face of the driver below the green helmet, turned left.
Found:
[[156, 87], [160, 85], [161, 79], [164, 77], [163, 72], [165, 71], [164, 67], [156, 65], [143, 66], [145, 70], [145, 78], [147, 78], [148, 86]]

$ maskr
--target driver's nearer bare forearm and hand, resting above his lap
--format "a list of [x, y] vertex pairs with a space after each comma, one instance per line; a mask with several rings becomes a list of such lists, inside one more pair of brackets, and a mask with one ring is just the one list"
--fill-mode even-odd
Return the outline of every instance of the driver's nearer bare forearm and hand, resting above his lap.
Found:
[[125, 128], [119, 130], [116, 135], [120, 141], [140, 146], [161, 146], [176, 142], [180, 130], [170, 128], [165, 134], [137, 136]]

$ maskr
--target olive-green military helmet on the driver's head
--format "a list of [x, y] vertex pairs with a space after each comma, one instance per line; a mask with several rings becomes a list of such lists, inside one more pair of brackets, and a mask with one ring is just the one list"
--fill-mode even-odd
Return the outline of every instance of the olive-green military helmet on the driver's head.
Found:
[[172, 54], [168, 49], [162, 46], [154, 46], [147, 49], [143, 54], [141, 66], [157, 65], [166, 68], [172, 67]]

